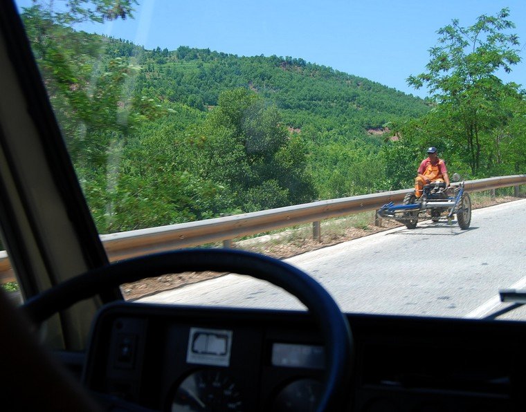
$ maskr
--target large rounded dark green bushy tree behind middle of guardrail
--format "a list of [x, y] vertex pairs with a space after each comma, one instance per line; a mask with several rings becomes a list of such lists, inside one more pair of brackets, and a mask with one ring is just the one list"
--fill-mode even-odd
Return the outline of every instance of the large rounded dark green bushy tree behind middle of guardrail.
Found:
[[247, 212], [315, 198], [306, 145], [289, 135], [278, 108], [253, 91], [221, 93], [197, 133], [201, 176], [228, 187]]

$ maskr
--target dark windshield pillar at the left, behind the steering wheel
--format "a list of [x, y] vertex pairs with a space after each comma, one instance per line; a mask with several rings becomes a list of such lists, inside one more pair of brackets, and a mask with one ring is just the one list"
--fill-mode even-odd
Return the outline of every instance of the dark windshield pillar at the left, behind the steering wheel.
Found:
[[[25, 299], [109, 264], [24, 26], [0, 2], [0, 230]], [[41, 329], [55, 348], [82, 350], [101, 303], [84, 301]]]

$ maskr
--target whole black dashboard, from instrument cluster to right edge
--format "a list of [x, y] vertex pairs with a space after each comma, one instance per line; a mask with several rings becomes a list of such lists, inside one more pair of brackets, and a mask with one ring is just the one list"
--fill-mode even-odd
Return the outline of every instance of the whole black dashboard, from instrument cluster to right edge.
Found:
[[[345, 411], [522, 411], [524, 324], [347, 315]], [[91, 391], [161, 411], [314, 411], [325, 353], [307, 312], [114, 303], [93, 326]]]

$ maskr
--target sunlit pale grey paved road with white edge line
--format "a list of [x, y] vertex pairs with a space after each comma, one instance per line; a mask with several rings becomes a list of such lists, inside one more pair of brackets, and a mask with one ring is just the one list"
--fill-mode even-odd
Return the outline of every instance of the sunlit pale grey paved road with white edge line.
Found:
[[[311, 274], [346, 312], [482, 318], [509, 306], [498, 290], [526, 288], [526, 199], [473, 211], [469, 230], [419, 223], [287, 261]], [[141, 301], [304, 308], [268, 283], [237, 274]], [[499, 319], [526, 319], [520, 308]]]

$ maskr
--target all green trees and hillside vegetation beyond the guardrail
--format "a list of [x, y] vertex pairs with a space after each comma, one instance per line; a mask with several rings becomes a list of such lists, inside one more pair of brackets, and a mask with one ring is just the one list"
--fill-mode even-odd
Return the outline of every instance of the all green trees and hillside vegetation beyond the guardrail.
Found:
[[135, 5], [22, 15], [100, 233], [411, 187], [428, 146], [466, 180], [525, 173], [525, 92], [497, 77], [520, 62], [507, 9], [439, 29], [408, 77], [422, 100], [300, 57], [74, 30]]

